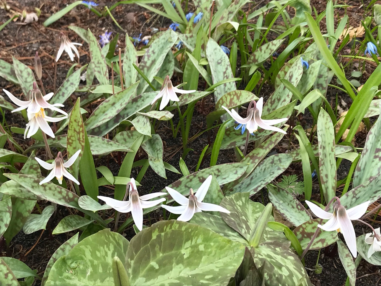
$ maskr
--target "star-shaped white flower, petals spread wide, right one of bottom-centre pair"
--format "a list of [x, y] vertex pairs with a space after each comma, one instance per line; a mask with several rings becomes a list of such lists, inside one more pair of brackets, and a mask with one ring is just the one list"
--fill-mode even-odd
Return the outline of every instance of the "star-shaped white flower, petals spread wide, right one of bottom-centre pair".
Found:
[[189, 199], [180, 194], [178, 191], [165, 187], [171, 197], [181, 204], [181, 206], [171, 207], [162, 205], [162, 207], [173, 214], [181, 214], [177, 220], [182, 220], [183, 222], [187, 222], [192, 219], [193, 215], [196, 212], [201, 212], [202, 210], [206, 211], [215, 211], [215, 212], [225, 212], [230, 214], [229, 210], [224, 207], [218, 206], [216, 204], [210, 204], [208, 202], [202, 202], [207, 194], [210, 183], [212, 180], [212, 176], [210, 175], [200, 186], [199, 190], [197, 190], [196, 194], [193, 194], [193, 190], [189, 191]]

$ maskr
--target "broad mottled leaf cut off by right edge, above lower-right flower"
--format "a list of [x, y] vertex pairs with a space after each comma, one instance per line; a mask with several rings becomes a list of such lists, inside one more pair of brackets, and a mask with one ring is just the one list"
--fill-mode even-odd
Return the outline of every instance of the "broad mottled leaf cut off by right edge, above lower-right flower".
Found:
[[364, 149], [357, 163], [353, 177], [353, 188], [367, 181], [381, 172], [381, 121], [377, 120], [369, 130]]

